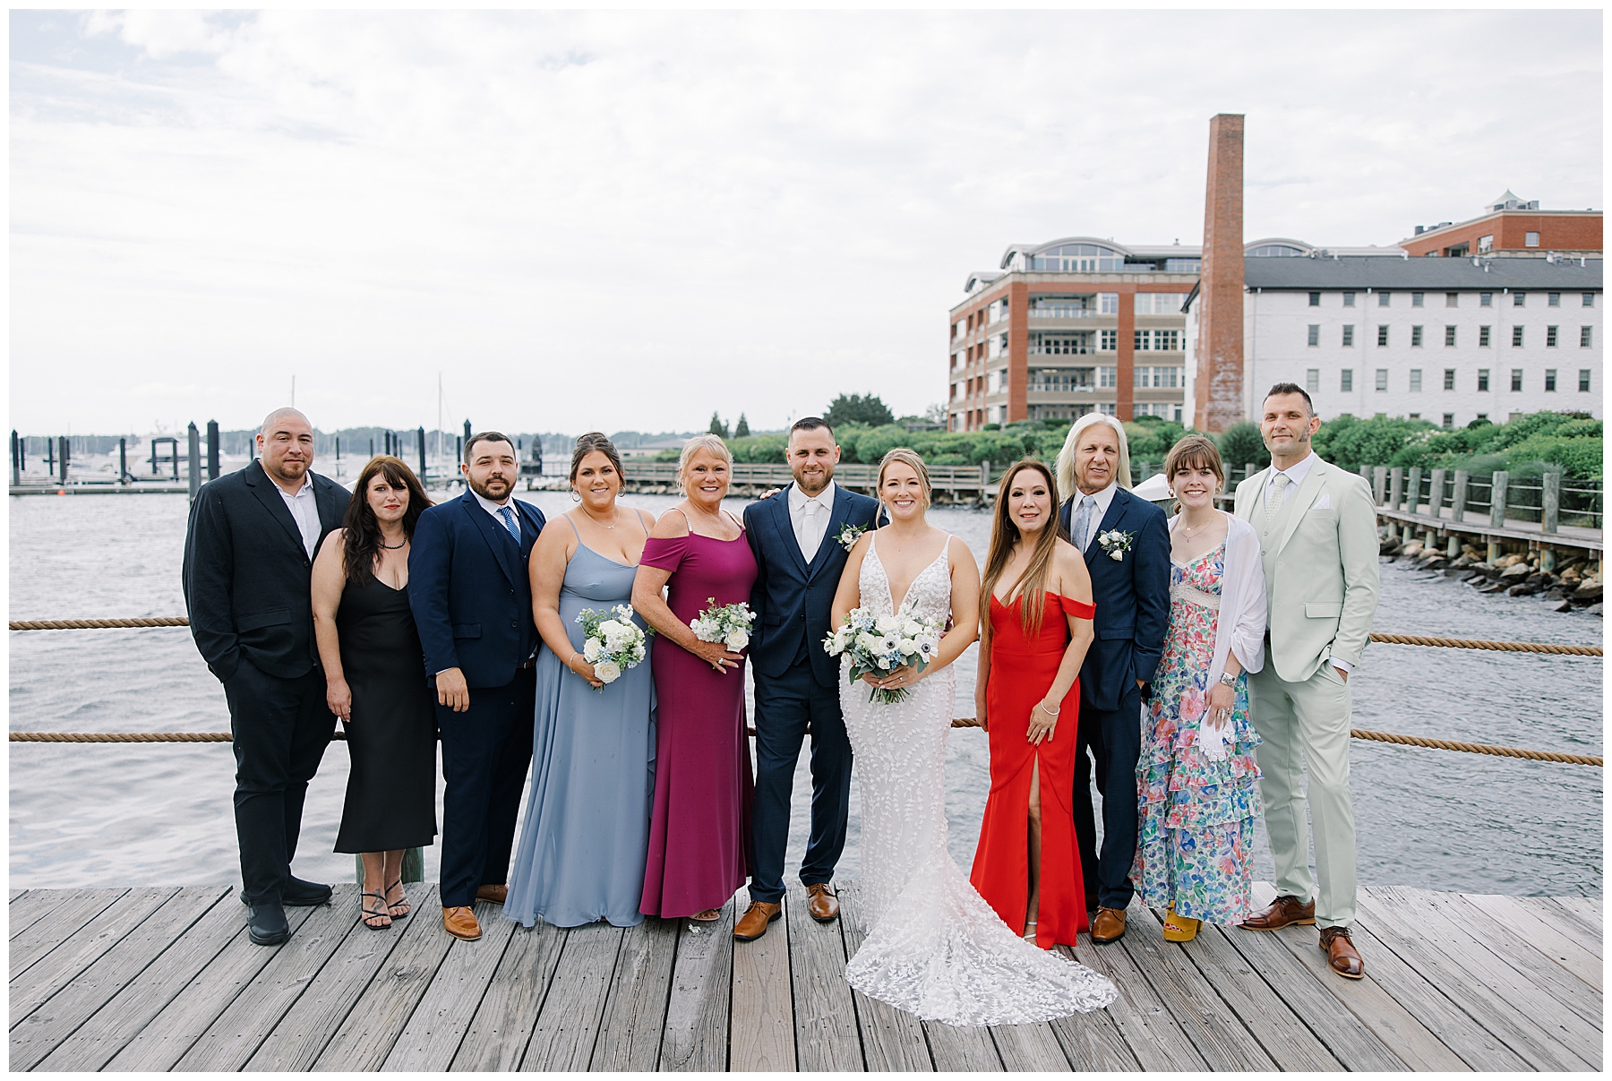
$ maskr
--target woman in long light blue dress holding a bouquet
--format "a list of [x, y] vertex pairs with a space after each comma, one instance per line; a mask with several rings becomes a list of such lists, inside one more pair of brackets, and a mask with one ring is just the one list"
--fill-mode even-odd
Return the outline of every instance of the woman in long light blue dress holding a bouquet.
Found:
[[532, 788], [505, 899], [505, 915], [526, 926], [643, 920], [638, 899], [654, 794], [650, 657], [603, 683], [582, 656], [577, 622], [582, 609], [608, 615], [632, 601], [654, 516], [617, 506], [621, 477], [611, 441], [598, 432], [580, 437], [571, 456], [579, 504], [550, 520], [532, 549], [532, 606], [543, 648]]

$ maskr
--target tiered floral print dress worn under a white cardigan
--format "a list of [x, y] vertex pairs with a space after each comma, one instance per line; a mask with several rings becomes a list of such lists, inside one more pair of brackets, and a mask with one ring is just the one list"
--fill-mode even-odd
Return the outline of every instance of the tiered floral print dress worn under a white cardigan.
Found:
[[1170, 630], [1143, 722], [1136, 762], [1140, 838], [1130, 878], [1143, 904], [1207, 923], [1241, 923], [1251, 910], [1259, 733], [1248, 720], [1248, 675], [1236, 677], [1225, 760], [1198, 748], [1214, 659], [1225, 545], [1182, 565], [1170, 561]]

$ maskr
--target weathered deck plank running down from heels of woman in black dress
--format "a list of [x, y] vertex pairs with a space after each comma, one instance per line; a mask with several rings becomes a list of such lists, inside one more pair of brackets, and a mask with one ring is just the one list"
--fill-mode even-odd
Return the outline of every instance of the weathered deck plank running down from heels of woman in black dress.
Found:
[[[348, 1013], [372, 992], [371, 981], [405, 936], [421, 926], [413, 912], [384, 931], [356, 918], [342, 944], [319, 968], [297, 1002], [285, 1012], [242, 1070], [306, 1073], [347, 1021]], [[432, 928], [426, 926], [430, 931]], [[437, 931], [442, 933], [440, 930]], [[418, 933], [416, 933], [418, 938]], [[443, 936], [447, 938], [447, 936]], [[385, 986], [385, 984], [382, 984]]]

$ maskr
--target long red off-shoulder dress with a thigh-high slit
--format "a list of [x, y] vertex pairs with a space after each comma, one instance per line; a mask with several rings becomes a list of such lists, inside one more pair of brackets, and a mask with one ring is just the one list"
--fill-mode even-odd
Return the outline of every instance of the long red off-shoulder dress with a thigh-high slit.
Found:
[[996, 915], [1024, 934], [1030, 899], [1030, 775], [1040, 762], [1041, 878], [1035, 944], [1051, 949], [1074, 946], [1075, 933], [1086, 930], [1086, 891], [1072, 806], [1080, 680], [1064, 694], [1051, 739], [1037, 746], [1025, 730], [1030, 710], [1046, 696], [1064, 662], [1067, 617], [1091, 619], [1096, 607], [1048, 593], [1040, 632], [1025, 635], [1022, 606], [1022, 596], [1012, 604], [990, 598], [991, 669], [985, 685], [985, 715], [990, 723], [991, 793], [985, 801], [970, 881]]

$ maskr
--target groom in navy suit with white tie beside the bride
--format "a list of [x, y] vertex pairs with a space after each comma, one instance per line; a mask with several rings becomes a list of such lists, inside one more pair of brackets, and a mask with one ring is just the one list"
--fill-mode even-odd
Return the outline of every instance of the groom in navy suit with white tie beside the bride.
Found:
[[790, 838], [790, 796], [801, 741], [811, 731], [811, 838], [801, 862], [808, 912], [819, 923], [838, 918], [829, 884], [845, 849], [851, 801], [851, 739], [840, 715], [840, 665], [822, 649], [830, 606], [850, 546], [841, 533], [875, 525], [879, 503], [833, 483], [840, 448], [822, 417], [790, 429], [795, 483], [745, 507], [745, 535], [756, 554], [750, 609], [756, 630], [756, 801], [751, 810], [754, 860], [750, 909], [733, 938], [758, 939], [783, 912], [783, 855]]

